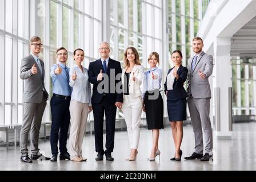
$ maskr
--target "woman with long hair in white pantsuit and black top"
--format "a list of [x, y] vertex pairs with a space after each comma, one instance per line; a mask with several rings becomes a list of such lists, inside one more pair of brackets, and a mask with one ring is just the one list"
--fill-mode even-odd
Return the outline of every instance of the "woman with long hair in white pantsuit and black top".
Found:
[[134, 47], [128, 47], [124, 53], [124, 69], [122, 72], [123, 84], [123, 115], [127, 125], [130, 143], [130, 157], [126, 160], [136, 160], [139, 144], [139, 125], [141, 124], [142, 93], [141, 83], [143, 70], [139, 63], [139, 54]]

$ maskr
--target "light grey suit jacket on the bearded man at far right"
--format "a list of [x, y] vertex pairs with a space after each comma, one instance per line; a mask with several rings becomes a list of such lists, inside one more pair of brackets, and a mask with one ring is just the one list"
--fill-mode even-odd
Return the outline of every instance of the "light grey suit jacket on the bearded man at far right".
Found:
[[[194, 98], [211, 98], [211, 89], [208, 78], [211, 76], [211, 73], [213, 73], [213, 56], [202, 52], [201, 55], [197, 58], [197, 63], [195, 65], [194, 71], [192, 71], [191, 63], [193, 57], [190, 57], [188, 61], [188, 97], [190, 98], [192, 94]], [[199, 69], [202, 73], [206, 73], [207, 77], [205, 79], [199, 77]]]

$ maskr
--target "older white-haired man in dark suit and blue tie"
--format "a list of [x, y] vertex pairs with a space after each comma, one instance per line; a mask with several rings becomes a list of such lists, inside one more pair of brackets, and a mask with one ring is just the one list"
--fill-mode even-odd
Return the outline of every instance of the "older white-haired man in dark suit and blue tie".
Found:
[[[117, 107], [121, 109], [123, 102], [122, 69], [119, 61], [110, 59], [109, 43], [102, 42], [99, 45], [99, 53], [101, 58], [89, 65], [89, 81], [94, 85], [91, 102], [93, 104], [94, 115], [95, 148], [96, 152], [98, 152], [95, 160], [103, 160], [103, 154], [105, 154], [106, 160], [113, 161], [114, 158], [111, 156], [111, 152], [114, 149], [115, 114]], [[119, 77], [117, 76], [118, 74]], [[117, 85], [119, 85], [119, 92], [115, 89]], [[105, 151], [103, 150], [104, 112], [106, 113]]]

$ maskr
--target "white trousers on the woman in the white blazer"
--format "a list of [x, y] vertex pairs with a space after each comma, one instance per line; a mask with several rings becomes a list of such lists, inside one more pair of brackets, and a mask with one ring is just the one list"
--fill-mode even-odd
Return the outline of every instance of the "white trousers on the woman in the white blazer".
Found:
[[142, 98], [123, 96], [123, 115], [127, 126], [130, 148], [138, 149], [141, 124]]

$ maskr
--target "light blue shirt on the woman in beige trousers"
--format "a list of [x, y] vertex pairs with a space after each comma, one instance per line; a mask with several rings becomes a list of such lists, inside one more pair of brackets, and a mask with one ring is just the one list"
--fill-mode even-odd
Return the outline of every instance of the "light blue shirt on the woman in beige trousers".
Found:
[[[74, 81], [72, 80], [72, 75], [75, 71], [77, 72], [77, 79]], [[71, 101], [89, 103], [89, 106], [91, 106], [91, 84], [89, 82], [88, 69], [83, 67], [82, 72], [78, 65], [75, 64], [70, 69], [69, 76], [69, 85], [73, 87]]]

